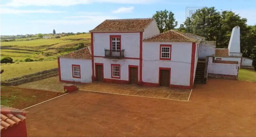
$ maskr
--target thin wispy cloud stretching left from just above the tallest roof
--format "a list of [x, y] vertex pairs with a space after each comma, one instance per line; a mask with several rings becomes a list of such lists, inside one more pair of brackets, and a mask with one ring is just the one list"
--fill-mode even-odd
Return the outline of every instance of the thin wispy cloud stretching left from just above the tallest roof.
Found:
[[106, 19], [117, 19], [115, 16], [84, 16], [82, 20], [34, 20], [31, 23], [45, 23], [45, 24], [100, 24]]

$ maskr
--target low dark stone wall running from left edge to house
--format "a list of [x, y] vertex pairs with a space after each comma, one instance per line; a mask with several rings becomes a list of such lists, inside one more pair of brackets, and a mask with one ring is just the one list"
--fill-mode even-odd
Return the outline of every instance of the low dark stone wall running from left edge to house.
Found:
[[52, 76], [56, 76], [58, 74], [59, 74], [58, 68], [55, 68], [55, 69], [51, 69], [51, 70], [45, 70], [45, 71], [36, 72], [36, 73], [33, 73], [33, 74], [24, 75], [22, 77], [7, 79], [7, 80], [4, 80], [4, 81], [1, 81], [1, 85], [3, 85], [3, 86], [15, 86], [15, 85], [18, 85], [18, 84], [27, 83], [27, 82], [31, 82], [31, 81], [36, 81], [36, 80], [39, 80], [39, 79], [49, 78], [49, 77], [52, 77]]

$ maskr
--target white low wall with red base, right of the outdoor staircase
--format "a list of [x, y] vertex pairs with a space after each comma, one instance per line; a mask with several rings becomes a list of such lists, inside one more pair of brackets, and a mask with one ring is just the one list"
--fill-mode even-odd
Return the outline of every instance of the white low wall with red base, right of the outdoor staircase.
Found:
[[239, 65], [237, 61], [217, 61], [213, 57], [207, 57], [208, 77], [237, 79]]

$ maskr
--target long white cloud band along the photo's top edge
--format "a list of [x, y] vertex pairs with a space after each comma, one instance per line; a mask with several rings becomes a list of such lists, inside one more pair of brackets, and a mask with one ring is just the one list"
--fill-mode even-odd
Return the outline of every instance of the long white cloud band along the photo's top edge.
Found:
[[11, 0], [2, 6], [72, 6], [91, 3], [147, 4], [156, 0]]

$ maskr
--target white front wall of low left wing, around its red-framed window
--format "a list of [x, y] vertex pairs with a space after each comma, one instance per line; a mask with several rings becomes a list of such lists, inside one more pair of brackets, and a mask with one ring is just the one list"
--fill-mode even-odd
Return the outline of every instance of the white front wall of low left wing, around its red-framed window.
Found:
[[[81, 79], [73, 78], [72, 64], [80, 65]], [[61, 80], [75, 81], [82, 83], [92, 82], [92, 60], [91, 59], [75, 59], [75, 58], [60, 58], [60, 74]]]

